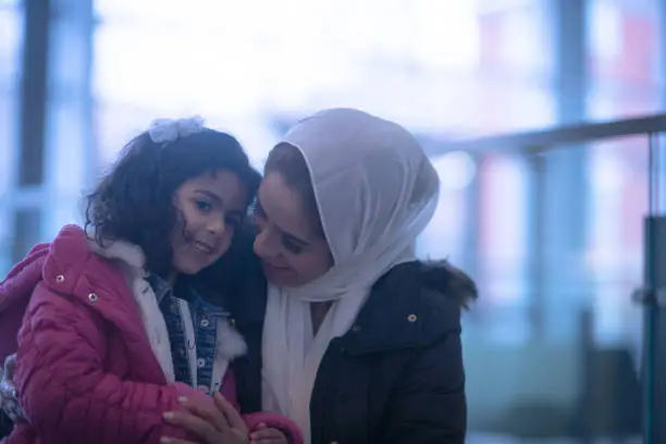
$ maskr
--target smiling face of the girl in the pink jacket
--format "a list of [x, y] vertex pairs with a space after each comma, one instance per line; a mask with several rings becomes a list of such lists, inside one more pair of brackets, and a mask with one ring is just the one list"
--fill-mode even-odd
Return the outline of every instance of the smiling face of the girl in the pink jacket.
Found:
[[247, 187], [231, 171], [192, 178], [176, 189], [173, 205], [178, 218], [171, 236], [173, 276], [196, 274], [226, 252], [245, 215], [247, 200]]

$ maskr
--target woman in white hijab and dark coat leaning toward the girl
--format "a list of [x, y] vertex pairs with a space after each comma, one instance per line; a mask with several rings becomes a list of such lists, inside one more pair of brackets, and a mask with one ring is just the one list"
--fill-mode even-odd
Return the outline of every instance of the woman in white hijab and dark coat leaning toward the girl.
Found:
[[460, 308], [477, 289], [415, 257], [437, 195], [417, 140], [361, 111], [317, 113], [278, 144], [255, 210], [268, 297], [255, 275], [230, 305], [244, 411], [286, 415], [311, 444], [465, 442]]

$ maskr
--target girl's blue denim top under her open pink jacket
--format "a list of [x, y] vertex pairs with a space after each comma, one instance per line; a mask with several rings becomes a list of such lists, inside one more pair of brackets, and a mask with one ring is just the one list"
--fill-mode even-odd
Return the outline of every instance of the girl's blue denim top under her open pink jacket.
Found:
[[[150, 275], [148, 282], [155, 292], [166, 323], [175, 380], [188, 385], [194, 385], [196, 381], [197, 388], [205, 393], [220, 390], [223, 373], [215, 375], [215, 381], [213, 381], [218, 353], [218, 325], [220, 321], [229, 319], [229, 312], [220, 306], [203, 300], [194, 288], [184, 288], [183, 294], [175, 295], [171, 285], [157, 275]], [[183, 311], [180, 309], [178, 299], [185, 300], [189, 308], [195, 344], [187, 344]], [[193, 350], [195, 347], [196, 378], [192, 374], [188, 360], [188, 349]], [[226, 369], [218, 370], [225, 371]]]

